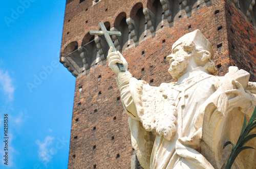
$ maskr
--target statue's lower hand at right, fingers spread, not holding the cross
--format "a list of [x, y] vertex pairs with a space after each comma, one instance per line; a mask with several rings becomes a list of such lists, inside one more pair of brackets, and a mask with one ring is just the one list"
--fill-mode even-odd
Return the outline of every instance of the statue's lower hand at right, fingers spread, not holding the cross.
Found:
[[241, 108], [247, 108], [251, 105], [250, 95], [244, 91], [243, 86], [240, 82], [236, 80], [232, 80], [233, 88], [232, 90], [227, 90], [225, 93], [230, 95], [234, 95], [234, 97], [231, 97], [228, 99], [228, 107], [229, 109], [235, 108], [235, 107], [241, 107]]

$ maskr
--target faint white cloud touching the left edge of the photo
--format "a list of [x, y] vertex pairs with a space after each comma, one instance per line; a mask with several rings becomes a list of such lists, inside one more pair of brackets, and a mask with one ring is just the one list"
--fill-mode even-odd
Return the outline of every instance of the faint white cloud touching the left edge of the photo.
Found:
[[14, 87], [12, 85], [12, 79], [9, 76], [8, 71], [4, 72], [0, 69], [0, 84], [3, 86], [4, 93], [8, 95], [10, 100], [12, 100]]

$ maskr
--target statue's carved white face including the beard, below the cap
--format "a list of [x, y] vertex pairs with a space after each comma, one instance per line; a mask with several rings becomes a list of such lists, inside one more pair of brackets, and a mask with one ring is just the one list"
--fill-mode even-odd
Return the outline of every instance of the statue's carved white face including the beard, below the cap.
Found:
[[183, 75], [188, 64], [188, 56], [189, 54], [184, 51], [183, 45], [178, 45], [172, 50], [172, 54], [166, 57], [170, 64], [168, 72], [174, 79], [178, 80], [178, 78]]

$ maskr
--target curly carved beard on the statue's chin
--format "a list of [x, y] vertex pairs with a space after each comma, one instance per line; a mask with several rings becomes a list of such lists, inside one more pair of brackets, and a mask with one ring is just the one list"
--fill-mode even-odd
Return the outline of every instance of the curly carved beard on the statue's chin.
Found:
[[187, 68], [187, 59], [187, 56], [184, 55], [176, 58], [175, 61], [170, 63], [170, 68], [168, 69], [168, 72], [176, 80], [178, 80], [178, 78], [183, 75], [183, 71]]

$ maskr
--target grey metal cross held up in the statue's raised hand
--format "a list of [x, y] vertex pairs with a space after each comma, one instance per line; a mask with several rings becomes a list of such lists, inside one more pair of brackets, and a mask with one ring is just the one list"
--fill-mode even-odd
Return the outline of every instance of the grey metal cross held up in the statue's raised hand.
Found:
[[[89, 31], [90, 34], [91, 35], [104, 35], [105, 39], [106, 39], [106, 42], [108, 42], [110, 47], [112, 46], [113, 51], [115, 52], [116, 48], [115, 48], [115, 46], [114, 46], [114, 44], [113, 44], [113, 42], [110, 38], [110, 35], [121, 36], [121, 33], [120, 32], [115, 32], [115, 31], [107, 31], [104, 23], [102, 23], [102, 22], [99, 23], [99, 26], [100, 26], [101, 31]], [[123, 64], [117, 63], [117, 66], [118, 66], [120, 72], [125, 72]]]

